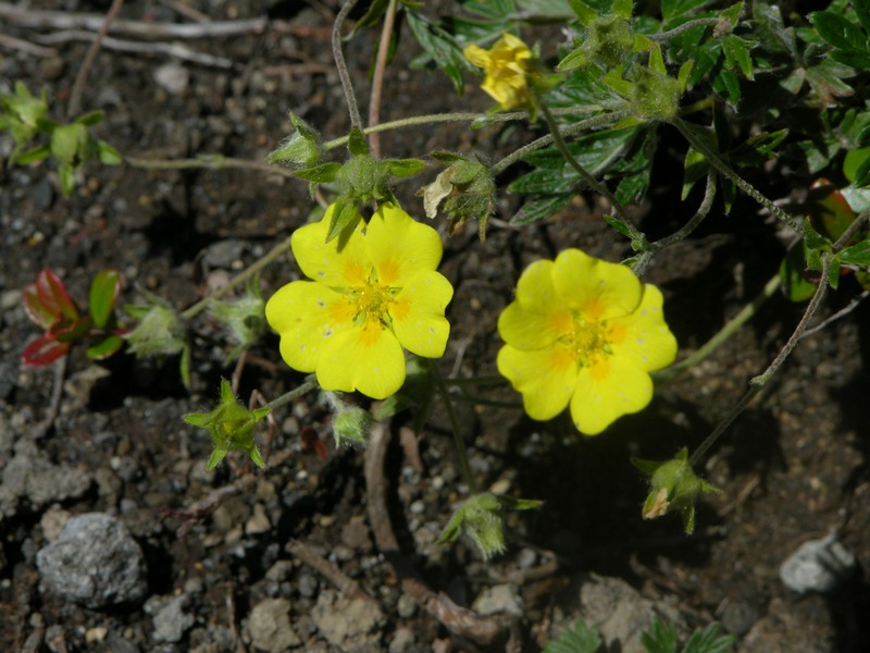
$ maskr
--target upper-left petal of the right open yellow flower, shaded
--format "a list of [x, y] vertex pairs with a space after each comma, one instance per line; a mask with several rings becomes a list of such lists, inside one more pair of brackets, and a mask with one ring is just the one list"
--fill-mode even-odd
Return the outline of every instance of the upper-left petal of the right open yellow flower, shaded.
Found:
[[540, 349], [573, 329], [570, 311], [552, 284], [554, 262], [535, 261], [517, 284], [517, 299], [498, 317], [498, 333], [518, 349]]

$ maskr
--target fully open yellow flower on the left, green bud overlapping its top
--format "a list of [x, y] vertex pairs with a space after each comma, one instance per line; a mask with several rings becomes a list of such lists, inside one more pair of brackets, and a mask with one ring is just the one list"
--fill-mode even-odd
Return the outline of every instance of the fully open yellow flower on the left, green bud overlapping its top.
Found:
[[405, 382], [405, 354], [444, 355], [450, 325], [444, 310], [453, 287], [435, 272], [438, 232], [393, 205], [349, 236], [326, 243], [334, 206], [297, 230], [290, 247], [306, 276], [275, 293], [265, 307], [291, 368], [316, 372], [324, 390], [375, 399]]

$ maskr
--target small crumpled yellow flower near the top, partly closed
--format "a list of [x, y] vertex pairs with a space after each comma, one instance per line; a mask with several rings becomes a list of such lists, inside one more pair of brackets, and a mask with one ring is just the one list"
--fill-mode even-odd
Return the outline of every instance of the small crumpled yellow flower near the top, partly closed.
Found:
[[481, 85], [501, 108], [507, 110], [525, 104], [529, 99], [526, 73], [531, 72], [532, 51], [512, 34], [502, 34], [489, 50], [468, 46], [462, 50], [473, 65], [486, 77]]

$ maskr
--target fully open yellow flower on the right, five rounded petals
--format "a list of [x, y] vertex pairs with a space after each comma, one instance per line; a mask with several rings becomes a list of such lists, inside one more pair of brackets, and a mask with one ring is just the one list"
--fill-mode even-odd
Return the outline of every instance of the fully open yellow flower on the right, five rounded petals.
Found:
[[574, 426], [596, 435], [644, 408], [652, 398], [648, 372], [676, 356], [661, 305], [659, 289], [629, 268], [579, 249], [532, 263], [498, 319], [507, 343], [498, 371], [533, 419], [570, 405]]

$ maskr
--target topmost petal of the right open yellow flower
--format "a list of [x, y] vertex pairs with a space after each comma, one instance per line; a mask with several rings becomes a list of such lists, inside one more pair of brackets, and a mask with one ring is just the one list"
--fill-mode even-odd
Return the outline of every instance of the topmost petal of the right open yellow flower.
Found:
[[566, 249], [556, 257], [552, 283], [559, 296], [588, 320], [626, 316], [637, 308], [641, 280], [625, 266]]

